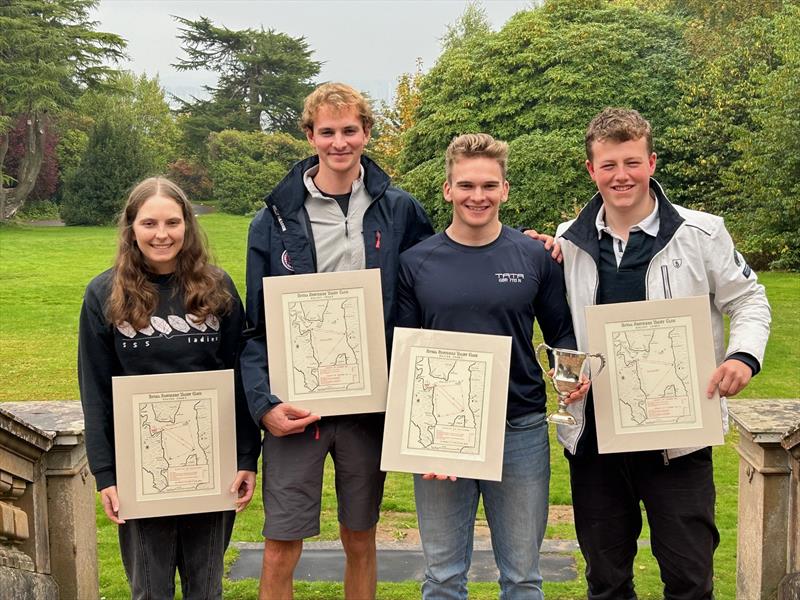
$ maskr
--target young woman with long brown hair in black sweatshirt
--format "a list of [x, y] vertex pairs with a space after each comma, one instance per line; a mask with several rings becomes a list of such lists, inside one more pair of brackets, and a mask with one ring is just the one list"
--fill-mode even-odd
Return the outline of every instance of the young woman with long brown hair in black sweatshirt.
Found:
[[[139, 183], [120, 216], [114, 266], [86, 288], [78, 344], [89, 466], [106, 515], [119, 525], [133, 598], [173, 598], [176, 569], [185, 599], [221, 598], [235, 513], [119, 518], [111, 378], [234, 368], [243, 325], [236, 288], [209, 263], [186, 195], [162, 177]], [[253, 495], [260, 451], [239, 392], [237, 386], [236, 512]]]

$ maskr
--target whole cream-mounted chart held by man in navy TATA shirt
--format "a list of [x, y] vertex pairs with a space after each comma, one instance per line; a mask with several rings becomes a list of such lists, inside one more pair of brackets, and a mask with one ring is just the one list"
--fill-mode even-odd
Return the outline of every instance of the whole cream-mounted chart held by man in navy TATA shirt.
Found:
[[500, 481], [511, 338], [394, 330], [382, 471]]

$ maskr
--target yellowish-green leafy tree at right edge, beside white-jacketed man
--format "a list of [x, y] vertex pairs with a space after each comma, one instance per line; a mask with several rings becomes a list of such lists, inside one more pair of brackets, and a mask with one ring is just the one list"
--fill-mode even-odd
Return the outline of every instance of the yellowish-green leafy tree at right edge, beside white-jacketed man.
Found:
[[798, 18], [783, 4], [740, 0], [715, 18], [695, 7], [663, 172], [674, 201], [726, 217], [753, 266], [798, 269]]

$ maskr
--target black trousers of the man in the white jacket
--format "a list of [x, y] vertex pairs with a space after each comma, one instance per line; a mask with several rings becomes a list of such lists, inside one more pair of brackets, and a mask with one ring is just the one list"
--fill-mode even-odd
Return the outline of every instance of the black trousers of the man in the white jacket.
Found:
[[642, 531], [640, 502], [647, 512], [664, 598], [713, 597], [719, 532], [714, 525], [711, 448], [668, 464], [661, 452], [595, 452], [568, 458], [590, 600], [636, 598], [633, 559]]

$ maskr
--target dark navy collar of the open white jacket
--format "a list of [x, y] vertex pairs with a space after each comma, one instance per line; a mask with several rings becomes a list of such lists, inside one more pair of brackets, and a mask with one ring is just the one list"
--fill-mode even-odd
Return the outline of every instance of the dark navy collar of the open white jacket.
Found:
[[[658, 200], [659, 227], [655, 244], [653, 244], [653, 254], [655, 254], [672, 239], [684, 219], [667, 198], [661, 184], [653, 178], [650, 178], [650, 190]], [[597, 192], [562, 235], [564, 239], [573, 242], [587, 252], [595, 263], [600, 262], [600, 244], [597, 240], [595, 222], [601, 206], [603, 206], [603, 197], [600, 192]]]

